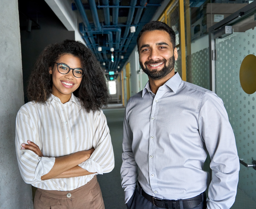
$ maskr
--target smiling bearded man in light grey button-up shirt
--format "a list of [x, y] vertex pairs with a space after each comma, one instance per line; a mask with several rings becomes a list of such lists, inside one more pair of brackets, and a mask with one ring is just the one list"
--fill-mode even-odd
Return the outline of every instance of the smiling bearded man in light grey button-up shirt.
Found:
[[126, 106], [121, 178], [128, 209], [230, 208], [240, 164], [222, 100], [175, 73], [175, 33], [166, 24], [144, 25], [137, 45], [149, 81]]

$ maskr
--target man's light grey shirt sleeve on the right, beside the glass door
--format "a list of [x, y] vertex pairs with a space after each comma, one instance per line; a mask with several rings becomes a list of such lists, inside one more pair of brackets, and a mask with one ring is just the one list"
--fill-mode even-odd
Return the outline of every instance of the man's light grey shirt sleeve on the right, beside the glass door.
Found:
[[199, 109], [199, 133], [205, 141], [212, 179], [208, 190], [208, 209], [229, 209], [236, 197], [239, 157], [235, 136], [222, 100], [206, 92]]

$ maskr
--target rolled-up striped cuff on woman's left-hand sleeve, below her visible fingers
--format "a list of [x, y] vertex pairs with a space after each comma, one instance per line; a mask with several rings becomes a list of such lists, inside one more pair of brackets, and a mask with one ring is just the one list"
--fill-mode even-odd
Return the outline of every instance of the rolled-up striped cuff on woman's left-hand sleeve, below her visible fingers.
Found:
[[35, 179], [42, 181], [41, 177], [48, 174], [55, 163], [55, 157], [38, 157], [39, 163], [35, 169]]

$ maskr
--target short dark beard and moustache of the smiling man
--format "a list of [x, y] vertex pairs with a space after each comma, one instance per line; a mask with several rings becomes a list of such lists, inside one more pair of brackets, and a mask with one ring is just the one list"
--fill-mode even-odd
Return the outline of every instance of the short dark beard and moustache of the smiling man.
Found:
[[[161, 70], [157, 70], [157, 69], [153, 69], [153, 70], [149, 70], [147, 68], [147, 64], [158, 64], [163, 62], [164, 66]], [[144, 71], [144, 73], [146, 75], [148, 75], [148, 77], [154, 79], [154, 80], [159, 80], [163, 77], [165, 77], [166, 75], [168, 75], [169, 73], [171, 73], [174, 69], [174, 65], [175, 65], [175, 58], [174, 56], [170, 57], [170, 59], [168, 60], [169, 64], [168, 66], [166, 66], [166, 60], [162, 59], [162, 60], [156, 60], [156, 61], [146, 61], [144, 63], [145, 67], [143, 66], [142, 62], [140, 61], [140, 65], [142, 70]]]

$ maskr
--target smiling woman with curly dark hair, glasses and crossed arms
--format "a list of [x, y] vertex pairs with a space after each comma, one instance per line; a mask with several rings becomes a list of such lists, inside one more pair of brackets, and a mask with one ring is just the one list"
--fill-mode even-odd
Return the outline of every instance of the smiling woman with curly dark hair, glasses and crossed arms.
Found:
[[38, 188], [34, 209], [104, 209], [96, 174], [112, 171], [114, 157], [100, 110], [109, 95], [92, 52], [71, 40], [48, 45], [28, 98], [16, 118], [16, 153], [22, 178]]

